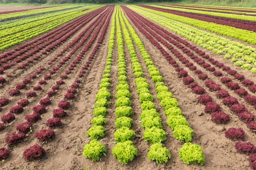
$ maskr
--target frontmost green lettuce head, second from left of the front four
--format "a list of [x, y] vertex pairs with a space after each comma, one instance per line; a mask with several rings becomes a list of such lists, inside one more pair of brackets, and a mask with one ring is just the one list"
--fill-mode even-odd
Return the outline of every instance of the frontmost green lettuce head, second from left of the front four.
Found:
[[128, 164], [129, 161], [132, 161], [135, 156], [137, 156], [138, 151], [134, 146], [133, 142], [125, 141], [117, 143], [112, 150], [114, 158], [123, 164]]

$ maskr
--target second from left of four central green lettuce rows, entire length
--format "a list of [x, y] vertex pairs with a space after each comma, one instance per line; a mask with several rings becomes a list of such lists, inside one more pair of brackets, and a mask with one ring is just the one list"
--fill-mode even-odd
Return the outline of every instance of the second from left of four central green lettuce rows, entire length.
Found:
[[137, 149], [131, 141], [135, 137], [134, 130], [131, 130], [133, 120], [129, 118], [132, 115], [131, 109], [131, 93], [129, 84], [127, 83], [127, 69], [125, 63], [124, 42], [122, 37], [122, 29], [119, 23], [119, 10], [116, 13], [116, 41], [118, 47], [118, 85], [116, 86], [116, 128], [114, 139], [116, 145], [113, 147], [112, 153], [122, 164], [128, 164], [137, 156]]

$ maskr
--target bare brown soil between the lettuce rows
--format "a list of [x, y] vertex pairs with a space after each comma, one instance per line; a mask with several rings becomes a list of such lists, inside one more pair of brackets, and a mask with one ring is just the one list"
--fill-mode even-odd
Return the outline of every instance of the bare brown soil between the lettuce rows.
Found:
[[[0, 8], [1, 9], [1, 8]], [[10, 10], [10, 9], [9, 9]], [[129, 20], [129, 19], [128, 19]], [[132, 24], [132, 22], [129, 20]], [[90, 24], [90, 23], [88, 23]], [[87, 25], [88, 25], [87, 24]], [[134, 26], [134, 25], [133, 25]], [[85, 26], [84, 26], [85, 27]], [[147, 79], [147, 82], [150, 85], [150, 92], [154, 96], [154, 103], [157, 108], [160, 117], [163, 120], [163, 130], [166, 131], [167, 140], [163, 142], [164, 146], [170, 150], [172, 158], [166, 163], [162, 165], [157, 165], [154, 162], [149, 162], [147, 158], [148, 148], [150, 144], [148, 142], [144, 142], [142, 139], [143, 136], [143, 128], [141, 127], [141, 123], [139, 122], [139, 116], [141, 114], [139, 96], [137, 94], [137, 87], [134, 82], [133, 71], [131, 68], [131, 59], [128, 51], [128, 47], [124, 42], [124, 50], [125, 50], [125, 60], [127, 65], [127, 79], [128, 84], [130, 86], [130, 92], [132, 94], [132, 111], [133, 115], [131, 119], [134, 120], [134, 124], [131, 129], [135, 131], [136, 137], [132, 141], [134, 142], [135, 147], [138, 150], [138, 156], [127, 165], [122, 165], [118, 162], [112, 154], [112, 149], [115, 146], [113, 133], [116, 130], [116, 126], [114, 121], [116, 119], [115, 116], [115, 94], [116, 94], [116, 86], [117, 86], [117, 78], [118, 78], [118, 69], [117, 69], [117, 43], [115, 41], [115, 46], [113, 50], [113, 64], [111, 67], [111, 106], [108, 107], [107, 121], [108, 123], [104, 125], [105, 127], [105, 137], [102, 140], [102, 144], [104, 144], [108, 151], [106, 156], [102, 156], [102, 160], [98, 162], [92, 162], [91, 159], [85, 159], [83, 156], [83, 147], [90, 141], [90, 138], [86, 137], [87, 130], [92, 126], [90, 120], [93, 119], [93, 108], [92, 105], [95, 103], [95, 96], [99, 89], [100, 80], [102, 79], [102, 73], [105, 67], [106, 57], [108, 55], [108, 41], [111, 29], [111, 22], [108, 25], [108, 31], [105, 35], [105, 40], [102, 43], [100, 51], [93, 59], [92, 64], [90, 65], [90, 69], [87, 71], [85, 76], [82, 78], [81, 85], [79, 87], [79, 94], [76, 96], [76, 99], [72, 101], [72, 107], [68, 111], [68, 116], [61, 119], [63, 121], [63, 125], [61, 127], [55, 127], [54, 130], [56, 132], [55, 139], [44, 144], [43, 147], [46, 150], [46, 154], [41, 159], [36, 159], [30, 162], [27, 162], [23, 159], [22, 153], [23, 150], [31, 146], [32, 144], [38, 143], [38, 140], [33, 137], [35, 132], [38, 132], [40, 129], [45, 128], [46, 120], [51, 117], [51, 112], [54, 108], [57, 107], [58, 101], [62, 99], [64, 93], [70, 87], [71, 83], [74, 80], [76, 74], [78, 74], [79, 68], [81, 64], [77, 66], [77, 72], [73, 73], [72, 76], [66, 81], [66, 84], [61, 87], [61, 90], [58, 92], [58, 95], [52, 98], [52, 104], [47, 107], [47, 113], [44, 114], [41, 121], [38, 121], [34, 128], [35, 131], [22, 142], [20, 142], [17, 147], [12, 148], [12, 153], [8, 160], [5, 163], [0, 164], [0, 169], [3, 170], [15, 170], [15, 169], [29, 169], [29, 170], [83, 170], [84, 168], [89, 168], [89, 170], [248, 170], [248, 156], [241, 155], [236, 152], [234, 147], [235, 143], [231, 142], [224, 136], [224, 130], [229, 127], [242, 127], [246, 134], [246, 141], [250, 141], [256, 144], [255, 134], [250, 132], [246, 125], [241, 122], [237, 116], [230, 114], [228, 108], [224, 105], [221, 105], [221, 108], [224, 112], [230, 114], [230, 122], [227, 125], [215, 125], [211, 121], [211, 117], [209, 114], [204, 113], [204, 106], [201, 105], [197, 97], [198, 95], [192, 94], [191, 90], [187, 88], [186, 85], [183, 85], [183, 82], [180, 78], [177, 77], [175, 69], [166, 61], [163, 55], [160, 54], [160, 51], [155, 48], [144, 36], [140, 33], [140, 31], [134, 26], [135, 31], [143, 41], [146, 50], [151, 56], [152, 61], [155, 66], [159, 69], [160, 74], [164, 78], [164, 83], [169, 87], [170, 91], [174, 94], [178, 102], [180, 109], [182, 110], [184, 116], [190, 123], [190, 126], [194, 130], [194, 137], [192, 140], [193, 144], [199, 144], [204, 149], [204, 155], [206, 158], [206, 163], [204, 166], [200, 166], [198, 164], [195, 165], [187, 165], [184, 164], [183, 161], [180, 160], [178, 156], [178, 152], [180, 147], [183, 145], [183, 142], [178, 141], [172, 135], [172, 130], [166, 124], [166, 115], [164, 114], [163, 108], [160, 105], [160, 101], [157, 99], [157, 94], [155, 92], [154, 83], [151, 82], [150, 76], [145, 65], [145, 62], [139, 53], [137, 46], [135, 45], [135, 49], [137, 52], [137, 56], [139, 58], [139, 62], [143, 67], [144, 77]], [[82, 30], [82, 29], [81, 29]], [[80, 31], [81, 31], [80, 30]], [[173, 33], [173, 32], [172, 32]], [[76, 35], [78, 35], [77, 33]], [[175, 33], [173, 33], [175, 34]], [[177, 35], [177, 34], [175, 34]], [[75, 36], [75, 35], [74, 35]], [[73, 37], [74, 37], [73, 36]], [[179, 35], [177, 35], [179, 36]], [[73, 40], [73, 37], [71, 38]], [[179, 36], [180, 37], [180, 36]], [[182, 38], [182, 37], [181, 37]], [[69, 40], [68, 42], [72, 41]], [[189, 41], [190, 42], [190, 41]], [[195, 45], [197, 48], [205, 51], [200, 46], [196, 45], [193, 42], [190, 42], [192, 45]], [[65, 43], [66, 44], [66, 43]], [[94, 46], [94, 45], [93, 45]], [[58, 51], [63, 48], [64, 45], [59, 46], [52, 54], [49, 54], [42, 62], [44, 64], [47, 63], [47, 60], [53, 57]], [[93, 48], [93, 47], [92, 47]], [[165, 48], [166, 49], [166, 48]], [[170, 52], [170, 51], [168, 51]], [[67, 54], [67, 53], [66, 53]], [[83, 61], [87, 60], [90, 51], [83, 58]], [[183, 53], [182, 53], [183, 54]], [[218, 59], [219, 62], [223, 62], [225, 65], [230, 66], [230, 68], [235, 69], [236, 67], [227, 60], [223, 59], [223, 56], [218, 56], [213, 54], [210, 51], [207, 51], [211, 57]], [[185, 57], [185, 55], [184, 55]], [[175, 59], [177, 60], [177, 59]], [[56, 62], [57, 63], [57, 62]], [[35, 65], [33, 68], [38, 68], [40, 62]], [[179, 63], [179, 65], [182, 65]], [[198, 65], [197, 65], [198, 66]], [[47, 68], [50, 69], [51, 67]], [[185, 67], [183, 67], [186, 69]], [[198, 67], [199, 68], [199, 67]], [[189, 71], [188, 69], [186, 69]], [[203, 70], [203, 69], [202, 69]], [[252, 79], [254, 82], [256, 81], [255, 76], [247, 74], [247, 71], [243, 71], [241, 69], [236, 68], [239, 73], [244, 74], [246, 78]], [[25, 71], [23, 76], [29, 74], [30, 71]], [[60, 75], [59, 73], [58, 75]], [[209, 73], [207, 73], [209, 75]], [[189, 75], [191, 75], [198, 83], [202, 84], [204, 87], [204, 82], [200, 81], [195, 77], [195, 75], [189, 71]], [[14, 82], [20, 82], [24, 77], [17, 77]], [[55, 82], [57, 77], [54, 77], [51, 80], [51, 85]], [[211, 77], [214, 81], [218, 82], [217, 78]], [[16, 84], [16, 83], [15, 83]], [[220, 83], [219, 83], [220, 84]], [[9, 84], [8, 86], [13, 87], [14, 85]], [[47, 85], [47, 87], [51, 87]], [[223, 86], [224, 88], [224, 86]], [[9, 87], [5, 87], [5, 91], [7, 91]], [[205, 88], [207, 89], [207, 88]], [[225, 88], [225, 90], [227, 90]], [[46, 89], [47, 91], [47, 89]], [[35, 105], [39, 99], [45, 96], [45, 92], [42, 91], [38, 93], [38, 97], [33, 99], [30, 104], [30, 108], [25, 108], [25, 111], [21, 113], [19, 119], [15, 119], [14, 123], [11, 123], [8, 127], [8, 130], [4, 130], [0, 132], [0, 147], [6, 147], [4, 142], [4, 138], [7, 133], [10, 133], [15, 130], [15, 126], [17, 123], [23, 122], [23, 116], [25, 114], [30, 114], [31, 106]], [[229, 91], [229, 90], [228, 90]], [[230, 94], [232, 93], [229, 91]], [[3, 92], [6, 94], [6, 92]], [[214, 96], [213, 92], [209, 92], [207, 90], [207, 94], [210, 96]], [[232, 94], [233, 95], [233, 94]], [[234, 96], [234, 95], [233, 95]], [[237, 96], [236, 96], [237, 97]], [[217, 98], [213, 98], [215, 102], [220, 103], [220, 100]], [[16, 101], [16, 100], [15, 100]], [[243, 104], [243, 101], [239, 101]], [[9, 109], [12, 105], [15, 105], [16, 102], [12, 102], [5, 109]], [[247, 105], [246, 105], [247, 106]], [[0, 113], [1, 116], [3, 112]], [[15, 125], [14, 125], [15, 124]], [[38, 143], [39, 144], [39, 143]]]

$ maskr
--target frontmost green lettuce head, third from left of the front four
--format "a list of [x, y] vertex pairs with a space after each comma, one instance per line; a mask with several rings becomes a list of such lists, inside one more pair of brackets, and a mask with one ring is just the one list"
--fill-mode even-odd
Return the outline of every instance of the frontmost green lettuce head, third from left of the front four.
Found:
[[157, 164], [163, 164], [171, 159], [170, 151], [163, 147], [161, 143], [152, 144], [148, 149], [148, 160], [156, 161]]

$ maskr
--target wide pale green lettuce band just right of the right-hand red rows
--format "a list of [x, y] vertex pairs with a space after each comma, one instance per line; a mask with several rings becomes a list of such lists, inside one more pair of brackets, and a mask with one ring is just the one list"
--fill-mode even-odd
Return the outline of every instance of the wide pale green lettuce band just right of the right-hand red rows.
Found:
[[[171, 31], [176, 32], [177, 34], [186, 37], [187, 39], [191, 40], [192, 42], [197, 43], [198, 45], [202, 46], [203, 48], [207, 48], [208, 50], [212, 51], [215, 54], [221, 55], [223, 52], [227, 53], [225, 55], [226, 58], [233, 57], [233, 59], [244, 57], [245, 60], [249, 63], [255, 62], [255, 48], [250, 46], [246, 46], [239, 42], [234, 42], [228, 40], [224, 37], [217, 36], [215, 34], [205, 32], [194, 28], [192, 26], [185, 25], [183, 23], [178, 23], [174, 20], [167, 19], [166, 17], [156, 16], [146, 11], [139, 10], [138, 8], [130, 7], [134, 11], [137, 11], [143, 16], [150, 18], [151, 20], [159, 23], [160, 25], [170, 29]], [[241, 68], [244, 70], [250, 70], [252, 68], [251, 64], [244, 64], [241, 65]], [[251, 69], [252, 73], [256, 73], [256, 69]]]

